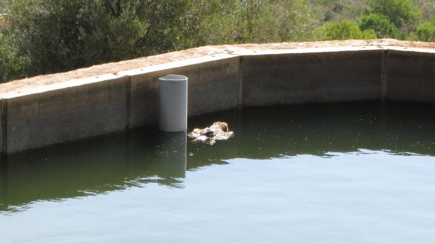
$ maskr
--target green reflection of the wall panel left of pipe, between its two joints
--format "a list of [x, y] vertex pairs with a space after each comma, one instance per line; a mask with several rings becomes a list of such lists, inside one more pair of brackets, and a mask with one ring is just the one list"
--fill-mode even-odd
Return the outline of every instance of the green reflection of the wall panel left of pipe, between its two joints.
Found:
[[122, 134], [9, 155], [5, 164], [10, 206], [113, 190], [128, 174]]

